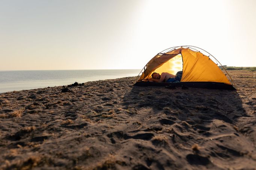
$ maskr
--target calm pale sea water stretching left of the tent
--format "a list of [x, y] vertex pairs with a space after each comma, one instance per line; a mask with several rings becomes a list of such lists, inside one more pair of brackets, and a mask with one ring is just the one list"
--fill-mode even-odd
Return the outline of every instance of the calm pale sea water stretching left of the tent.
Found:
[[0, 71], [0, 93], [137, 76], [140, 70]]

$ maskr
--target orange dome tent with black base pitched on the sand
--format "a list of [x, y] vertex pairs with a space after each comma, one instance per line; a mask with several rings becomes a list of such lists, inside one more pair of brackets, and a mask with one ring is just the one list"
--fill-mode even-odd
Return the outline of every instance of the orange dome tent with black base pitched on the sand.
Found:
[[[169, 85], [236, 90], [218, 67], [217, 63], [219, 62], [217, 59], [214, 58], [216, 61], [216, 63], [214, 63], [211, 58], [214, 58], [211, 54], [195, 46], [176, 46], [168, 48], [155, 55], [155, 57], [146, 64], [140, 72], [142, 75], [134, 85]], [[183, 74], [181, 81], [178, 83], [156, 83], [148, 81], [154, 72], [160, 73], [160, 75], [163, 72], [175, 75], [181, 70]]]

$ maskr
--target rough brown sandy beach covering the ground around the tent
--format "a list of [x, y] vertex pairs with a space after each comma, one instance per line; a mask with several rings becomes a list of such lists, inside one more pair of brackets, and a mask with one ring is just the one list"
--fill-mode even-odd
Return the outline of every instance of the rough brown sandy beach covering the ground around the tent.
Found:
[[229, 73], [239, 91], [128, 77], [0, 94], [0, 169], [255, 169], [256, 72]]

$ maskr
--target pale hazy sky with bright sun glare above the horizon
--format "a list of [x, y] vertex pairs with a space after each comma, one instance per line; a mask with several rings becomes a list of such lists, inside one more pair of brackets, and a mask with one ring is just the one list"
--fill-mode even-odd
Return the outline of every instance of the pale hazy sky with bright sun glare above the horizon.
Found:
[[256, 0], [0, 0], [0, 70], [142, 69], [172, 46], [256, 67]]

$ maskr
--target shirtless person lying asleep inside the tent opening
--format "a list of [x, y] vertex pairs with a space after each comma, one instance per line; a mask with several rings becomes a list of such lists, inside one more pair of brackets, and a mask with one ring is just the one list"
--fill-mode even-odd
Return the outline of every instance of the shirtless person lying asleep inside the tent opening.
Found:
[[172, 75], [170, 73], [167, 73], [167, 72], [163, 72], [163, 73], [161, 73], [161, 75], [159, 73], [153, 73], [151, 76], [152, 76], [152, 78], [149, 78], [150, 82], [178, 83], [181, 81], [182, 71], [177, 72], [176, 76]]

